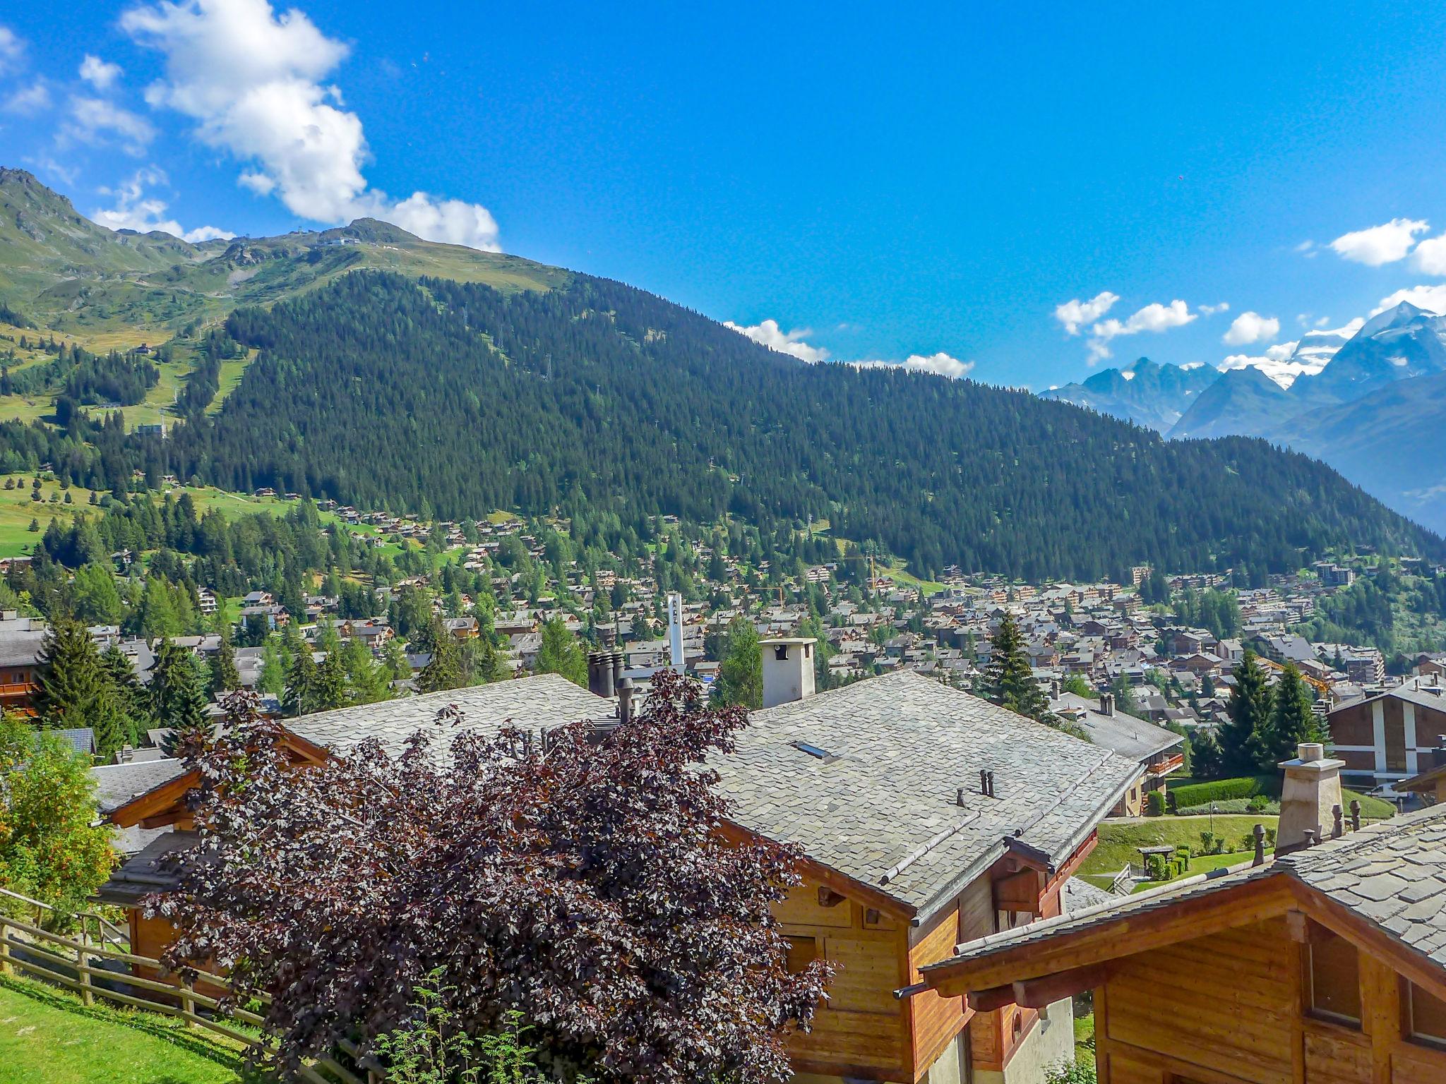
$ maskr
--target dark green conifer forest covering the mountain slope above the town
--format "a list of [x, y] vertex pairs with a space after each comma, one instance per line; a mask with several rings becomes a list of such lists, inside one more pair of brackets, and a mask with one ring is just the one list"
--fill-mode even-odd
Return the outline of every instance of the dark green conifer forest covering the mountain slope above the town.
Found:
[[581, 275], [502, 293], [356, 272], [240, 309], [227, 330], [256, 361], [163, 454], [230, 489], [448, 517], [587, 502], [622, 517], [827, 519], [921, 574], [1283, 571], [1300, 551], [1352, 542], [1446, 554], [1330, 468], [1262, 441], [1167, 444], [1022, 392], [805, 366]]

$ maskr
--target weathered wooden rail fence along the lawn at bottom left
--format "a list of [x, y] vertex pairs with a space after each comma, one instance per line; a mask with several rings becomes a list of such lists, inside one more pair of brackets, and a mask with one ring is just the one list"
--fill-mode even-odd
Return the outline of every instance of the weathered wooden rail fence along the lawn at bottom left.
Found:
[[[6, 898], [33, 905], [39, 911], [52, 911], [39, 900], [19, 896], [0, 889]], [[38, 919], [43, 918], [38, 911]], [[165, 974], [163, 964], [147, 955], [134, 955], [121, 950], [111, 938], [120, 931], [106, 922], [94, 912], [81, 912], [80, 932], [75, 937], [64, 937], [43, 929], [36, 922], [7, 918], [0, 913], [0, 976], [25, 973], [48, 983], [58, 983], [80, 994], [84, 1005], [94, 1005], [97, 997], [133, 1009], [178, 1016], [188, 1028], [200, 1028], [215, 1035], [224, 1035], [246, 1046], [260, 1046], [266, 1044], [260, 1028], [265, 1020], [253, 1012], [241, 1007], [221, 1010], [220, 999], [201, 993], [195, 986], [179, 978], [166, 983], [159, 978], [146, 978], [134, 974], [136, 968], [146, 968], [152, 974]], [[90, 922], [95, 919], [98, 937], [91, 938]], [[107, 929], [108, 926], [108, 929]], [[129, 942], [127, 948], [129, 948]], [[101, 961], [101, 965], [97, 965]], [[117, 971], [103, 964], [126, 964], [130, 971]], [[98, 980], [98, 981], [97, 981]], [[234, 993], [231, 984], [223, 976], [207, 973], [201, 980], [204, 986], [218, 989], [223, 993]], [[116, 989], [124, 987], [124, 989]], [[149, 996], [147, 996], [149, 994]], [[265, 996], [257, 997], [262, 1003], [269, 1003]], [[204, 1010], [204, 1012], [202, 1012]], [[246, 1032], [234, 1025], [246, 1025], [256, 1031]], [[344, 1044], [343, 1049], [348, 1055], [356, 1054], [351, 1044]], [[366, 1081], [356, 1072], [334, 1061], [321, 1058], [314, 1064], [302, 1065], [301, 1078], [309, 1084], [376, 1084], [380, 1074], [369, 1072]]]

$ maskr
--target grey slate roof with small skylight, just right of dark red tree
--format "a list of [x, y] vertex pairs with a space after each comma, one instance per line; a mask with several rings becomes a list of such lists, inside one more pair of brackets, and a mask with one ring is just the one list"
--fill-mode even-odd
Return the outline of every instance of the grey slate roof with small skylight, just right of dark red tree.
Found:
[[[1135, 760], [911, 672], [755, 711], [713, 766], [740, 825], [921, 918], [1006, 837], [1061, 861], [1139, 775]], [[995, 798], [979, 792], [980, 769], [995, 773]]]

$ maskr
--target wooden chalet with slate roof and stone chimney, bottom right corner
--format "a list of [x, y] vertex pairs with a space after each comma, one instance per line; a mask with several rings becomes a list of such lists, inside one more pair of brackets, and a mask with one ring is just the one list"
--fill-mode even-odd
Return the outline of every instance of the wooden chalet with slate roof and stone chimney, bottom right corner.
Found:
[[1351, 831], [1340, 763], [1284, 765], [1274, 860], [967, 939], [918, 989], [977, 1012], [1093, 990], [1100, 1084], [1439, 1084], [1446, 808]]

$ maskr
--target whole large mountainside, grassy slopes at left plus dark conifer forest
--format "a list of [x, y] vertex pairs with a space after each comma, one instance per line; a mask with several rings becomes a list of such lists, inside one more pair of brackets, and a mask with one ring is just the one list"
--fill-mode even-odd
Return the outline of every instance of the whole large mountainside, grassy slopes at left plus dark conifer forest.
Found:
[[0, 171], [0, 211], [6, 471], [121, 490], [140, 468], [458, 519], [827, 520], [925, 575], [1446, 556], [1261, 441], [1170, 445], [1022, 392], [805, 366], [642, 291], [386, 223], [188, 244], [98, 227], [23, 171]]

